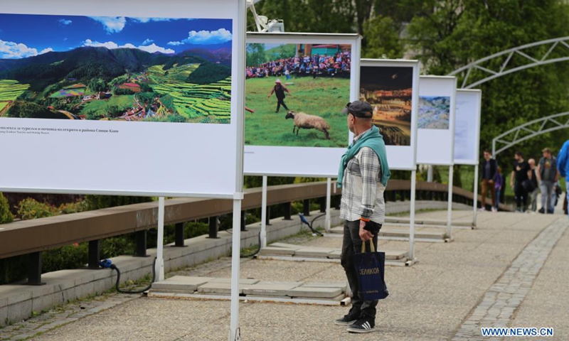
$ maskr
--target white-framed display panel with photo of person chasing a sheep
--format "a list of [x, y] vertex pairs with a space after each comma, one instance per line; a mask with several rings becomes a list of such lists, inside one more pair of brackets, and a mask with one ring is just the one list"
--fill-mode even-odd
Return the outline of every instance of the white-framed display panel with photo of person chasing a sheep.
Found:
[[245, 174], [336, 177], [357, 99], [358, 35], [248, 33]]

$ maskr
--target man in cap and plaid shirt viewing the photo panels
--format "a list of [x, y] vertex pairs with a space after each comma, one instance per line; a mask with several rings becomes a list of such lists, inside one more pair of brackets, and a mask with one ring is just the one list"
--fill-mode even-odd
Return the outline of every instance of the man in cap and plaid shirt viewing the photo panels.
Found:
[[391, 176], [385, 153], [385, 143], [379, 129], [371, 124], [371, 105], [356, 101], [343, 111], [348, 116], [348, 128], [354, 134], [352, 144], [342, 156], [338, 187], [343, 188], [340, 218], [344, 223], [341, 264], [352, 292], [347, 315], [336, 320], [348, 325], [349, 332], [372, 332], [376, 328], [378, 301], [363, 301], [353, 254], [361, 252], [361, 244], [371, 241], [377, 248], [378, 232], [385, 219], [383, 191]]

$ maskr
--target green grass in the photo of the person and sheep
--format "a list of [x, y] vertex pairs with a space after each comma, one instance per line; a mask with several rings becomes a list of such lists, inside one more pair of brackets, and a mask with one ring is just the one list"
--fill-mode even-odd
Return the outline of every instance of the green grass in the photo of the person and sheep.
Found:
[[[283, 82], [285, 80], [283, 79]], [[294, 121], [285, 119], [286, 110], [278, 114], [275, 94], [269, 99], [275, 77], [252, 78], [245, 82], [247, 92], [245, 103], [255, 113], [245, 113], [245, 144], [250, 146], [299, 146], [338, 147], [348, 146], [348, 126], [341, 109], [350, 100], [350, 80], [344, 78], [298, 77], [287, 85], [292, 95], [287, 94], [285, 103], [295, 112], [322, 117], [331, 127], [330, 140], [316, 129], [301, 129], [298, 136], [292, 134]]]

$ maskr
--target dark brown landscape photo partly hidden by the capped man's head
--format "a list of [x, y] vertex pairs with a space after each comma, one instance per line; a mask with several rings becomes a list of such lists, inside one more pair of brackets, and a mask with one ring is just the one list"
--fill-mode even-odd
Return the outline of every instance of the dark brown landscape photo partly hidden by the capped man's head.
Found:
[[361, 67], [360, 100], [373, 107], [385, 145], [411, 145], [412, 98], [413, 67]]

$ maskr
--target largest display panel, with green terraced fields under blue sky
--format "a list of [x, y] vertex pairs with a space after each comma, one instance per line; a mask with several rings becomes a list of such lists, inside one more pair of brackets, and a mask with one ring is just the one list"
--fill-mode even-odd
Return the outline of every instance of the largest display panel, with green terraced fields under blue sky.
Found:
[[238, 1], [25, 0], [0, 12], [0, 144], [18, 160], [0, 190], [240, 191]]

